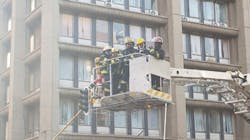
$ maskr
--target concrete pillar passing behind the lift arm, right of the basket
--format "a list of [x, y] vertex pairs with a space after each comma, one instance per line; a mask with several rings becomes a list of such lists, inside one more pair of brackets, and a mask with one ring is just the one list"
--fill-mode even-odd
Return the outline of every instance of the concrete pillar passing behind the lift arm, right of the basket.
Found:
[[[167, 0], [168, 14], [168, 50], [171, 67], [183, 68], [182, 53], [182, 21], [180, 1]], [[175, 104], [169, 105], [167, 136], [169, 138], [186, 139], [186, 100], [183, 87], [172, 85], [172, 96]]]

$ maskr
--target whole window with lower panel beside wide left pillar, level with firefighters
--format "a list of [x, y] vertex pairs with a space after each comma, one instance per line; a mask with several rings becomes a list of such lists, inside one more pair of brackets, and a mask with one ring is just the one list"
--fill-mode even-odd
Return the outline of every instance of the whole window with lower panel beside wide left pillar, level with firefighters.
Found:
[[73, 87], [74, 59], [71, 55], [60, 57], [60, 85], [63, 87]]

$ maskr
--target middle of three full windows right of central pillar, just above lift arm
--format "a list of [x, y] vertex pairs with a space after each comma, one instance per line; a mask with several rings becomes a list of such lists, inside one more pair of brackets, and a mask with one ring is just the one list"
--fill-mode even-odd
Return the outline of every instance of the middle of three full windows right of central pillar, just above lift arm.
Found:
[[216, 62], [215, 58], [215, 42], [213, 38], [205, 37], [205, 55], [206, 61]]

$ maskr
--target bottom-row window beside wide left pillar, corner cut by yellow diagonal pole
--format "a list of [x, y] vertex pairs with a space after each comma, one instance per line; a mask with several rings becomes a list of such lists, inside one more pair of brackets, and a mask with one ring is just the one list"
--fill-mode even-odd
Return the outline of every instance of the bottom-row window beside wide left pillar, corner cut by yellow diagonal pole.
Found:
[[61, 98], [60, 100], [60, 124], [66, 124], [75, 112], [75, 103], [72, 99]]

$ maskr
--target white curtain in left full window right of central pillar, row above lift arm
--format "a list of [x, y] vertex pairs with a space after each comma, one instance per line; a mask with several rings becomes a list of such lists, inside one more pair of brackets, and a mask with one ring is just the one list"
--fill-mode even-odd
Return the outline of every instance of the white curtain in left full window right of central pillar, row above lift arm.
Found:
[[201, 40], [200, 36], [191, 35], [191, 50], [194, 55], [201, 55]]

